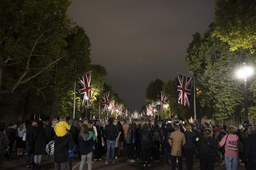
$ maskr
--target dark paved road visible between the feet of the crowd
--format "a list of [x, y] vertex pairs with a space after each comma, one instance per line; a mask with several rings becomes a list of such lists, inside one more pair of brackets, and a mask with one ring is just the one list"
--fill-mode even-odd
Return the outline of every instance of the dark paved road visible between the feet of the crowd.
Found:
[[[14, 153], [15, 154], [15, 153]], [[50, 161], [47, 160], [47, 156], [44, 155], [41, 162], [41, 168], [42, 170], [54, 170], [54, 158], [52, 158]], [[161, 160], [163, 160], [163, 157], [161, 156]], [[102, 159], [102, 161], [95, 161], [92, 164], [93, 170], [170, 170], [170, 166], [167, 168], [164, 168], [163, 161], [160, 162], [153, 162], [152, 161], [152, 167], [143, 167], [140, 160], [136, 160], [136, 162], [127, 162], [127, 158], [125, 156], [120, 156], [118, 159], [115, 160], [115, 163], [109, 163], [105, 164]], [[73, 159], [73, 170], [78, 170], [80, 165], [80, 161], [78, 160], [78, 156], [75, 155]], [[11, 160], [5, 160], [3, 164], [4, 170], [25, 170], [26, 167], [26, 156], [17, 156], [14, 155]], [[87, 164], [84, 166], [84, 170], [87, 170]], [[178, 170], [178, 168], [176, 168]], [[220, 166], [218, 163], [216, 163], [216, 166], [214, 168], [215, 170], [225, 170], [225, 166]], [[186, 170], [186, 164], [185, 161], [183, 161], [183, 170]], [[196, 164], [194, 165], [194, 170], [200, 170], [199, 161], [197, 160]], [[238, 170], [245, 170], [244, 167], [238, 165]]]

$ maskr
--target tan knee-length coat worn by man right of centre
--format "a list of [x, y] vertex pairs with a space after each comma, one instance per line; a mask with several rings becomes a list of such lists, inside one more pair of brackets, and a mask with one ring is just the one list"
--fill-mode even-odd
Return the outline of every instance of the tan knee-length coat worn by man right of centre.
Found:
[[170, 134], [168, 140], [170, 146], [172, 146], [172, 156], [182, 156], [182, 146], [186, 144], [185, 136], [182, 132], [176, 130]]

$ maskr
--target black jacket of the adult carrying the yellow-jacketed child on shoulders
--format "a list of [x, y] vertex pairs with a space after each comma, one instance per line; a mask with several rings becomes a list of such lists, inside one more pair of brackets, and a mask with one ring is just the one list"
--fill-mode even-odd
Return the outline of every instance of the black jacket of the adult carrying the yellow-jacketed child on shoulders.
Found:
[[65, 136], [54, 136], [54, 162], [64, 163], [68, 162], [69, 148], [74, 147], [74, 142], [71, 134], [67, 133]]

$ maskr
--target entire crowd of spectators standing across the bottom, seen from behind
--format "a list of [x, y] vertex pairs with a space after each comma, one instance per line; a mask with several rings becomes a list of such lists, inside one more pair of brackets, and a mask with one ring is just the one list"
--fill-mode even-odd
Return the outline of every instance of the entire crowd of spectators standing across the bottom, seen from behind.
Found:
[[[182, 121], [168, 121], [158, 125], [151, 122], [140, 124], [113, 119], [108, 124], [84, 121], [82, 124], [68, 124], [61, 116], [59, 121], [26, 121], [0, 125], [0, 170], [4, 158], [10, 159], [12, 151], [25, 154], [26, 168], [40, 168], [46, 147], [54, 148], [55, 170], [72, 170], [72, 158], [77, 152], [81, 159], [79, 170], [87, 161], [88, 170], [92, 162], [105, 159], [105, 164], [118, 160], [124, 154], [128, 162], [141, 161], [142, 166], [152, 166], [152, 161], [171, 162], [172, 170], [182, 170], [185, 159], [188, 170], [193, 169], [196, 158], [200, 160], [201, 170], [214, 170], [216, 161], [226, 166], [226, 170], [236, 170], [238, 164], [246, 170], [256, 167], [256, 126], [210, 125], [200, 127]], [[52, 142], [54, 141], [54, 142]], [[15, 148], [15, 149], [14, 149]], [[50, 152], [47, 153], [50, 157]], [[160, 160], [160, 154], [164, 159]], [[87, 160], [86, 160], [87, 159]]]

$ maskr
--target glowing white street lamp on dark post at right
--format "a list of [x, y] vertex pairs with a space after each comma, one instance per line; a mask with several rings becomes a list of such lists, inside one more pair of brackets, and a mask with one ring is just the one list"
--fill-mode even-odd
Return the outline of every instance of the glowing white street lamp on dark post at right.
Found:
[[246, 63], [244, 63], [244, 67], [238, 69], [236, 72], [237, 77], [244, 78], [244, 124], [249, 124], [248, 119], [248, 98], [247, 98], [247, 81], [246, 78], [252, 75], [253, 69], [252, 67], [248, 67]]

